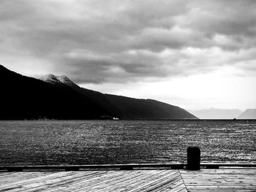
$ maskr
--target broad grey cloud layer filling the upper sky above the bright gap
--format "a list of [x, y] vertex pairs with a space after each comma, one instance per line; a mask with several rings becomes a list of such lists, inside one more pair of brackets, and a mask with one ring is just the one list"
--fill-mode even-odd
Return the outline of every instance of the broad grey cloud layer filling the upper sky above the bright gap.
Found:
[[[42, 60], [76, 82], [252, 70], [256, 1], [2, 0], [1, 61]], [[39, 64], [38, 64], [39, 65]]]

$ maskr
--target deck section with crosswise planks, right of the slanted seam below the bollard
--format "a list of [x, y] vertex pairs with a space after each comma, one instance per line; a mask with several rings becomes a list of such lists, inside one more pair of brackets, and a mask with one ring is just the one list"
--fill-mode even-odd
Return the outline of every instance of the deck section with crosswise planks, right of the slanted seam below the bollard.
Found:
[[181, 170], [188, 191], [256, 191], [255, 169]]

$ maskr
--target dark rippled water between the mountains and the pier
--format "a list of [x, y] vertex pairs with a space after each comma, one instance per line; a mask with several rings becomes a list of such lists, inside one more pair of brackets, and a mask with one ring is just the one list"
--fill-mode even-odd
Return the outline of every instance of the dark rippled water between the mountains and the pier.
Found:
[[256, 163], [256, 120], [0, 121], [0, 165]]

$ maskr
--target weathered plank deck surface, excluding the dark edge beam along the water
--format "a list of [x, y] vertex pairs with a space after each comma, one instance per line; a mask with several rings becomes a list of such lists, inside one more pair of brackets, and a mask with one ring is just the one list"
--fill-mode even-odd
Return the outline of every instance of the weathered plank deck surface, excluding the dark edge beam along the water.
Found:
[[[186, 189], [187, 188], [187, 189]], [[6, 172], [0, 191], [256, 191], [256, 169]]]

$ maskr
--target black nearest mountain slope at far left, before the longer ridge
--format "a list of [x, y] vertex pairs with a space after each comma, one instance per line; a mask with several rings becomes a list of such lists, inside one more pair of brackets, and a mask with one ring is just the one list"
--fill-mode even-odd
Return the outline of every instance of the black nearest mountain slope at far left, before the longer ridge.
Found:
[[0, 83], [0, 119], [93, 119], [107, 113], [72, 88], [25, 77], [4, 66]]

